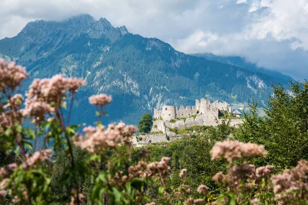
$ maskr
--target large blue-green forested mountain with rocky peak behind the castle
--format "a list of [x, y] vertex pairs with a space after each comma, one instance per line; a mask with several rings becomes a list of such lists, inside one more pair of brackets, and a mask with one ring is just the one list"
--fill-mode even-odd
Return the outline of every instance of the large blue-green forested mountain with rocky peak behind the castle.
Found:
[[278, 83], [266, 74], [186, 55], [157, 38], [133, 35], [125, 26], [114, 28], [107, 19], [87, 14], [63, 22], [31, 22], [17, 36], [0, 40], [0, 57], [27, 66], [26, 86], [33, 78], [56, 73], [84, 78], [87, 86], [75, 100], [75, 122], [95, 119], [87, 100], [95, 93], [113, 95], [106, 122], [137, 124], [155, 107], [193, 105], [202, 97], [228, 103], [254, 97], [262, 105]]

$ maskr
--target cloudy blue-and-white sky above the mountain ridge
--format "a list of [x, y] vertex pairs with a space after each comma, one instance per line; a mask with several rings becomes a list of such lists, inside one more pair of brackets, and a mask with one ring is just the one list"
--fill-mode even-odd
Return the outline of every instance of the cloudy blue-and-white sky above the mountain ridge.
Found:
[[308, 0], [0, 0], [0, 39], [34, 19], [89, 13], [185, 53], [238, 55], [308, 78]]

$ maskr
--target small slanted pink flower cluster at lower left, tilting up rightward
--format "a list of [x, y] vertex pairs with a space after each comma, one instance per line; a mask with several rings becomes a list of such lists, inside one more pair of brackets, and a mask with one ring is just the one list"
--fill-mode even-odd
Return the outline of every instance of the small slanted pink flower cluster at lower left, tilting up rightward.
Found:
[[32, 156], [26, 154], [26, 160], [23, 163], [23, 168], [28, 170], [36, 165], [40, 161], [49, 160], [51, 157], [52, 150], [41, 150], [34, 152]]

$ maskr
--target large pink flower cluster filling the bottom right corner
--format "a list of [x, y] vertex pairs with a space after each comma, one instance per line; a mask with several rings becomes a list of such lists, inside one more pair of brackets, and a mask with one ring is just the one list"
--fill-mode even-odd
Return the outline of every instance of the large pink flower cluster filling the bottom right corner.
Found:
[[308, 161], [300, 160], [293, 169], [272, 176], [275, 199], [279, 204], [289, 204], [296, 199], [308, 201]]

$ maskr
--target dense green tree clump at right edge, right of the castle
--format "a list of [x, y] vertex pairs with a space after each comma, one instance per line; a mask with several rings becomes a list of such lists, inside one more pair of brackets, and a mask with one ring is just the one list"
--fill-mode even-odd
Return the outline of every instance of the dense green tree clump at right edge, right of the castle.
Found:
[[274, 165], [277, 172], [308, 159], [308, 81], [290, 83], [290, 88], [274, 86], [264, 118], [258, 116], [253, 103], [235, 136], [243, 142], [265, 145], [268, 155], [259, 158], [257, 165]]

